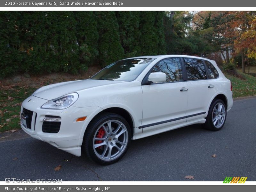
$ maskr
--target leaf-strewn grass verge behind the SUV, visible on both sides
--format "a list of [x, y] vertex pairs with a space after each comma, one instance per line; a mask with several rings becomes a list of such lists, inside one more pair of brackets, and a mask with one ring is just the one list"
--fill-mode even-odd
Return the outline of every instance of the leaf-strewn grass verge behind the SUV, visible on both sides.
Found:
[[[91, 74], [94, 74], [98, 70], [98, 68], [94, 69], [94, 71], [91, 71]], [[226, 74], [226, 77], [232, 81], [233, 97], [256, 95], [256, 77], [242, 74], [239, 71], [238, 73], [241, 74], [245, 80]], [[53, 75], [49, 75], [47, 78], [44, 76], [32, 77], [30, 79], [23, 79], [23, 81], [18, 83], [0, 81], [0, 132], [20, 129], [21, 102], [36, 91], [37, 88], [57, 82], [86, 79], [90, 77], [91, 74], [87, 74], [86, 76], [60, 75], [58, 78], [54, 79]]]

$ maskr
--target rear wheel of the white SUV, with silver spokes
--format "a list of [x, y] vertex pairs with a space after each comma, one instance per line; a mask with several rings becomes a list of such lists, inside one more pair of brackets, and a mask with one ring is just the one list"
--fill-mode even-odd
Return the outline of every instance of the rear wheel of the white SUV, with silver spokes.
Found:
[[214, 99], [209, 108], [204, 128], [211, 131], [219, 131], [226, 122], [227, 106], [220, 99]]

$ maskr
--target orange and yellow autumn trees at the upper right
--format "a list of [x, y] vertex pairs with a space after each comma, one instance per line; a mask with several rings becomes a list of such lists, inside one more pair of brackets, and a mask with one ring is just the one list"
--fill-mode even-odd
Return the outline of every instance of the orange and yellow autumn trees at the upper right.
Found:
[[256, 59], [255, 11], [200, 11], [195, 14], [193, 25], [201, 33], [208, 31], [208, 40], [219, 47], [226, 63], [230, 62], [228, 50], [241, 55], [243, 73], [246, 58]]

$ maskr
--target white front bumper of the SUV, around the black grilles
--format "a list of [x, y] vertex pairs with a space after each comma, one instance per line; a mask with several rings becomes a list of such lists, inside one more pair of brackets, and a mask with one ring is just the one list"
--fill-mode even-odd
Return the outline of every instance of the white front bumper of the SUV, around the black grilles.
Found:
[[[24, 127], [20, 121], [21, 128], [33, 138], [45, 141], [73, 155], [81, 156], [83, 133], [89, 123], [88, 121], [92, 119], [93, 112], [99, 110], [99, 107], [77, 108], [70, 106], [61, 110], [41, 108], [47, 101], [30, 96], [22, 102], [20, 114], [25, 108], [32, 111], [33, 115], [31, 117], [31, 129]], [[58, 133], [43, 132], [43, 119], [46, 116], [61, 117], [60, 131]], [[84, 121], [76, 122], [76, 119], [82, 116], [87, 118]]]

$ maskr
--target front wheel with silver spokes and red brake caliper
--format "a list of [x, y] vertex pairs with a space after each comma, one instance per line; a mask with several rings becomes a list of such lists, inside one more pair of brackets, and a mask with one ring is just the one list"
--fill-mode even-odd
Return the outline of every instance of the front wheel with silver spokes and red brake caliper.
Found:
[[131, 128], [124, 117], [107, 112], [93, 119], [86, 128], [82, 148], [92, 161], [108, 165], [124, 156], [130, 140]]

